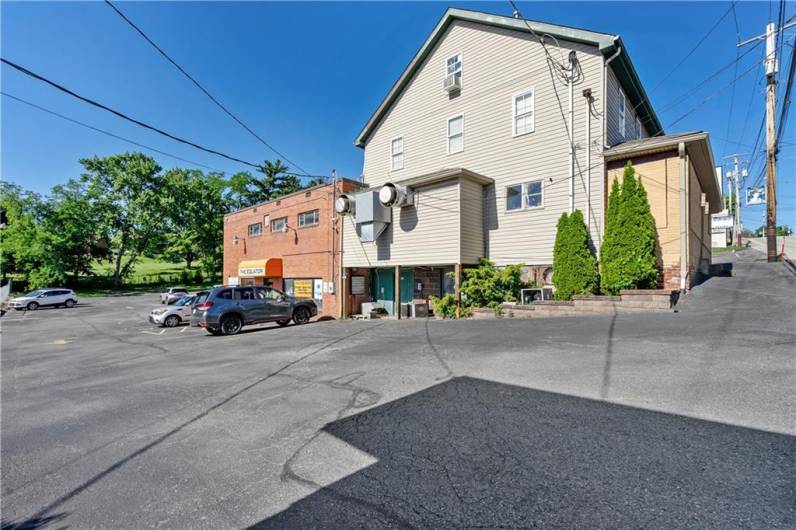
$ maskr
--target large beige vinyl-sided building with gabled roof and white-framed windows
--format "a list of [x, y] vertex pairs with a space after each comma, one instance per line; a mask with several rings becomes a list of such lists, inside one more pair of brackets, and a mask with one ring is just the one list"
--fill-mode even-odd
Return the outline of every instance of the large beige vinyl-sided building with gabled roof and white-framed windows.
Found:
[[[553, 60], [574, 58], [572, 96], [538, 35]], [[563, 212], [584, 212], [599, 252], [606, 150], [662, 133], [618, 36], [448, 9], [355, 141], [368, 193], [407, 199], [380, 199], [378, 237], [370, 206], [346, 212], [343, 267], [370, 289], [352, 300], [397, 312], [458, 292], [446, 274], [481, 258], [549, 280]]]

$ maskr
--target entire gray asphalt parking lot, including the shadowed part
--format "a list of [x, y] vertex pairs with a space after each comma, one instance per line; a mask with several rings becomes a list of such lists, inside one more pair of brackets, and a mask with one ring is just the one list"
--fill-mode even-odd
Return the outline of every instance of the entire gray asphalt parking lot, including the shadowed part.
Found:
[[793, 527], [796, 277], [761, 257], [665, 314], [11, 312], [3, 528]]

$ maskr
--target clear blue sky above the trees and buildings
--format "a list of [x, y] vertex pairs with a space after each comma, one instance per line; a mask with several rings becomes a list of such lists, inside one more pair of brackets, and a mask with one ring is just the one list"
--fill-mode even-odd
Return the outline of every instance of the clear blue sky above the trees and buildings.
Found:
[[[313, 174], [329, 174], [334, 168], [352, 177], [362, 170], [362, 151], [353, 146], [354, 137], [449, 5], [511, 15], [507, 2], [118, 4], [288, 158]], [[519, 3], [527, 18], [620, 34], [648, 91], [729, 6], [728, 2]], [[762, 33], [769, 12], [776, 17], [777, 9], [776, 2], [739, 2], [741, 38]], [[792, 2], [786, 9], [786, 17], [796, 13]], [[275, 157], [104, 3], [2, 2], [0, 10], [4, 58], [197, 143], [253, 162]], [[788, 33], [789, 42], [794, 35], [796, 31]], [[759, 68], [741, 78], [734, 91], [720, 91], [733, 79], [732, 68], [692, 90], [736, 57], [736, 41], [730, 13], [650, 98], [667, 132], [709, 131], [717, 162], [736, 150], [751, 151], [764, 112]], [[785, 49], [783, 70], [791, 48]], [[758, 46], [742, 59], [737, 73], [762, 57]], [[227, 173], [246, 169], [88, 107], [7, 66], [1, 75], [3, 91], [50, 110]], [[784, 88], [785, 74], [782, 77]], [[683, 96], [687, 98], [671, 106]], [[706, 98], [686, 119], [670, 126]], [[137, 149], [5, 97], [0, 110], [2, 178], [41, 193], [78, 176], [81, 157]], [[794, 124], [792, 117], [784, 133], [787, 143], [781, 146], [778, 178], [779, 222], [791, 226], [796, 226]], [[153, 156], [164, 167], [189, 165]], [[759, 167], [759, 163], [753, 167], [752, 177]], [[744, 208], [747, 226], [755, 228], [763, 220], [762, 207]]]

